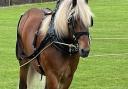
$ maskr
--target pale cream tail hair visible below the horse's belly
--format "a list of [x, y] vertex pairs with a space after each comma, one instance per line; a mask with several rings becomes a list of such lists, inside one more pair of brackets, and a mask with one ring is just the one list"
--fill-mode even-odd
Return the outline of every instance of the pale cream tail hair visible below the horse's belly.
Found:
[[45, 76], [41, 80], [41, 75], [30, 65], [27, 75], [27, 89], [45, 89], [45, 80]]

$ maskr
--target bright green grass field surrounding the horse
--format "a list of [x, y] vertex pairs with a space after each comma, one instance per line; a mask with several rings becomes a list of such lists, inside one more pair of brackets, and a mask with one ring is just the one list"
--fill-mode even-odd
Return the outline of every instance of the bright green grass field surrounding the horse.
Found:
[[[89, 0], [89, 4], [95, 14], [91, 53], [81, 58], [70, 89], [128, 89], [128, 0]], [[18, 85], [15, 42], [20, 14], [29, 8], [54, 5], [0, 8], [0, 89], [16, 89]]]

